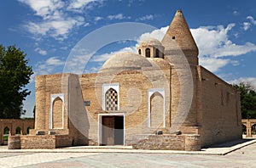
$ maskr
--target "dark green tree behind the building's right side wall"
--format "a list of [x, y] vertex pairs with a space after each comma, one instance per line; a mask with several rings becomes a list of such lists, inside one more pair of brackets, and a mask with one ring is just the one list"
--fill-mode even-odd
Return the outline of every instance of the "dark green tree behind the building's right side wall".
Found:
[[240, 91], [241, 118], [256, 119], [256, 92], [252, 85], [248, 82], [241, 82], [233, 87]]

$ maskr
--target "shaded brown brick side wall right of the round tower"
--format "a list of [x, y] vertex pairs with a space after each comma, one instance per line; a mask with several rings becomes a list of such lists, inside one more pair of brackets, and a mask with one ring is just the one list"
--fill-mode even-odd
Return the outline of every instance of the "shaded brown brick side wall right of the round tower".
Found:
[[198, 111], [202, 146], [241, 138], [240, 95], [199, 66]]

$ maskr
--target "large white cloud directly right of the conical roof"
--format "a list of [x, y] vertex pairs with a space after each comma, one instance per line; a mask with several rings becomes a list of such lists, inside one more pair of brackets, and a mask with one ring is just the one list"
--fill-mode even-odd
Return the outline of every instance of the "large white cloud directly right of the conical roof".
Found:
[[235, 24], [230, 24], [227, 27], [218, 25], [191, 29], [200, 51], [200, 64], [208, 70], [216, 72], [226, 64], [239, 64], [238, 61], [234, 62], [234, 60], [224, 59], [224, 57], [234, 57], [256, 51], [256, 45], [251, 42], [237, 45], [230, 40], [228, 34], [234, 26]]

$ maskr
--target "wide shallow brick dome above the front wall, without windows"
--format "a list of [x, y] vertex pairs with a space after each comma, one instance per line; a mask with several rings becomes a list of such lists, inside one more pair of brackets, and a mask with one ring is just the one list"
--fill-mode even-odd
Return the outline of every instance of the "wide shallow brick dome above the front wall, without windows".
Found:
[[136, 53], [116, 53], [102, 66], [106, 69], [140, 70], [142, 67], [150, 67], [148, 59]]

